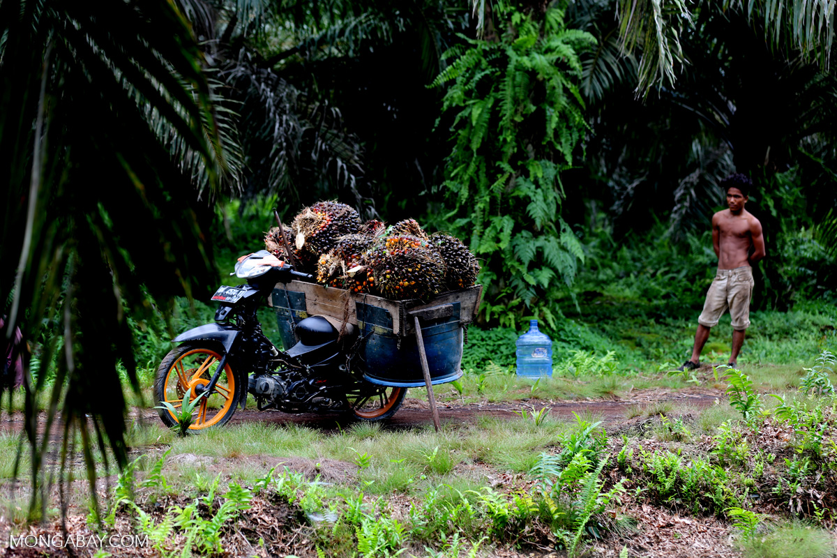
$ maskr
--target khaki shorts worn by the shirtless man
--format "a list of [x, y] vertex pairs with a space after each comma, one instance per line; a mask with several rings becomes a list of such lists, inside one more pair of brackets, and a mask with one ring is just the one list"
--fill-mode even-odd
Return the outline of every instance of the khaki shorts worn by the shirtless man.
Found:
[[750, 298], [752, 297], [752, 268], [718, 269], [697, 323], [706, 327], [718, 325], [718, 319], [729, 309], [733, 330], [750, 327]]

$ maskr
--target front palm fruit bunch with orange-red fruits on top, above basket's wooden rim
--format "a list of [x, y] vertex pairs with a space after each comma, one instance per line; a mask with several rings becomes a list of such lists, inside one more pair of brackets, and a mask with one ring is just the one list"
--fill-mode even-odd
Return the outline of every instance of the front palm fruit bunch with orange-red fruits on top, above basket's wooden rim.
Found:
[[388, 236], [363, 255], [381, 296], [428, 299], [444, 290], [444, 260], [429, 241], [408, 235]]

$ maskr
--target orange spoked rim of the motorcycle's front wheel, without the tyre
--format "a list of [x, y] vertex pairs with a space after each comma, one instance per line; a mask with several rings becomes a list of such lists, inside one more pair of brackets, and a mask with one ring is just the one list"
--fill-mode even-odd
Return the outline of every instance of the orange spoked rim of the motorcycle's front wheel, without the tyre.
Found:
[[[163, 385], [163, 401], [171, 403], [179, 412], [183, 396], [188, 392], [189, 401], [194, 401], [198, 397], [196, 388], [208, 385], [220, 361], [221, 356], [210, 349], [193, 349], [184, 353], [168, 369]], [[234, 394], [235, 376], [229, 364], [226, 364], [218, 376], [212, 395], [204, 397], [193, 410], [189, 430], [202, 430], [218, 424], [234, 406]], [[174, 422], [179, 422], [177, 414], [171, 410], [167, 412]]]

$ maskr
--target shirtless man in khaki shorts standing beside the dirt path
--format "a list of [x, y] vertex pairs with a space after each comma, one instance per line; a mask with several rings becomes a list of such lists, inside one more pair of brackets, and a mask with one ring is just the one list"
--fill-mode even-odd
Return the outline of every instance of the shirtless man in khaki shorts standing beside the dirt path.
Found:
[[750, 326], [751, 266], [764, 258], [762, 223], [744, 209], [751, 186], [750, 179], [742, 174], [733, 174], [721, 181], [721, 187], [727, 190], [729, 209], [712, 216], [712, 244], [718, 256], [718, 272], [697, 319], [691, 359], [684, 362], [677, 369], [679, 371], [700, 366], [701, 351], [709, 338], [709, 330], [718, 324], [727, 309], [732, 315], [732, 356], [728, 366], [737, 366], [744, 331]]

